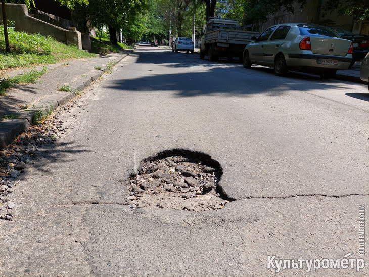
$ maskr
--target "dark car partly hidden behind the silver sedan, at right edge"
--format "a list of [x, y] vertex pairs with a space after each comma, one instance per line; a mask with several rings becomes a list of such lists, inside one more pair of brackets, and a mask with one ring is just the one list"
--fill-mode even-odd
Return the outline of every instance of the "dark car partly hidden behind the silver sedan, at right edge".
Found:
[[352, 62], [360, 61], [369, 52], [369, 36], [364, 34], [353, 34], [341, 27], [330, 27], [342, 38], [352, 41]]

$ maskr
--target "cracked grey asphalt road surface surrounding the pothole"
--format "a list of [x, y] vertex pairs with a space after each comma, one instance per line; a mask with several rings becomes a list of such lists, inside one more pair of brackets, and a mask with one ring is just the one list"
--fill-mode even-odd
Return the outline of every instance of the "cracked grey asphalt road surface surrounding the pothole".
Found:
[[[77, 119], [63, 117], [74, 129], [27, 167], [10, 197], [15, 220], [0, 222], [0, 273], [265, 275], [275, 272], [268, 255], [360, 257], [367, 93], [363, 84], [140, 47], [86, 91], [84, 110], [71, 111]], [[121, 205], [121, 180], [172, 148], [210, 154], [236, 201], [207, 212]]]

